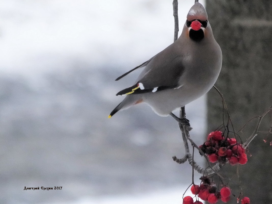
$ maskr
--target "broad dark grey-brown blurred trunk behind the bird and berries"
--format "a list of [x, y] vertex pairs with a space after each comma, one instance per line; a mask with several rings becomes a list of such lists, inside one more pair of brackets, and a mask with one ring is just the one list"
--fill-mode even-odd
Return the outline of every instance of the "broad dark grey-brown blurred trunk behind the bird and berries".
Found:
[[[223, 94], [234, 128], [239, 130], [250, 118], [263, 114], [272, 105], [272, 4], [268, 0], [207, 0], [206, 8], [215, 39], [222, 49], [223, 64], [215, 86]], [[256, 120], [255, 120], [256, 122]], [[222, 123], [222, 101], [212, 89], [208, 93], [208, 131]], [[246, 126], [245, 141], [256, 123]], [[271, 126], [271, 116], [262, 121], [263, 131]], [[250, 132], [251, 131], [251, 132]], [[258, 135], [249, 145], [248, 163], [239, 165], [243, 196], [251, 203], [272, 203], [272, 140]], [[223, 167], [223, 175], [236, 175], [237, 166]], [[237, 176], [229, 182], [236, 197]], [[232, 197], [229, 203], [236, 203]]]

